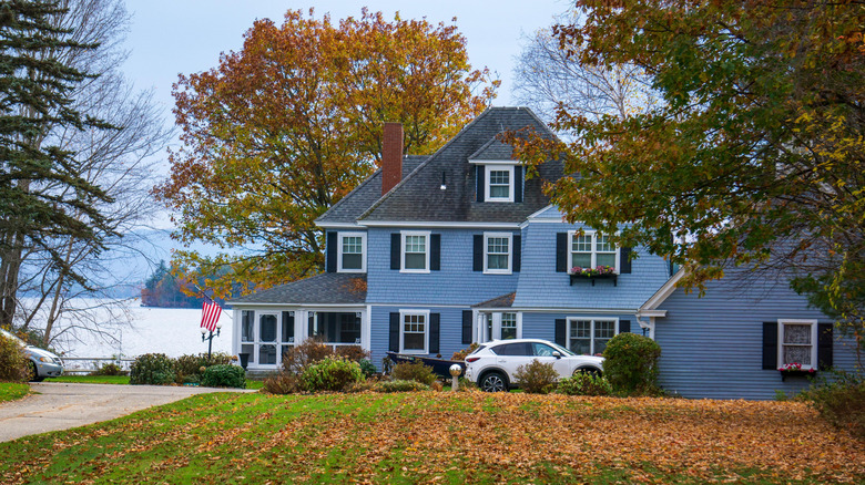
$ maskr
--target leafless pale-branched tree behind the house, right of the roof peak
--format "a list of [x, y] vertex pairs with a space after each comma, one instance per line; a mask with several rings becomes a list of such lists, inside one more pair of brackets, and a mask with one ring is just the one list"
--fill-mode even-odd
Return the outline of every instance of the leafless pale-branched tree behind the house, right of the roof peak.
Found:
[[[559, 16], [558, 23], [579, 23], [577, 11]], [[597, 120], [601, 115], [627, 117], [658, 103], [651, 78], [632, 63], [592, 65], [580, 62], [583, 47], [562, 40], [553, 27], [522, 35], [522, 50], [513, 68], [513, 99], [548, 122], [563, 107]]]

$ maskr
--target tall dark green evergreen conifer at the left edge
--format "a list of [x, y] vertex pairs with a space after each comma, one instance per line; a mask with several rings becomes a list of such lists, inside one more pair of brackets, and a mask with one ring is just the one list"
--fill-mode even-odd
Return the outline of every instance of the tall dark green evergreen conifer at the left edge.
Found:
[[111, 196], [82, 176], [74, 152], [50, 136], [111, 128], [72, 103], [90, 75], [60, 55], [95, 44], [58, 24], [67, 11], [57, 1], [0, 3], [0, 327], [9, 328], [16, 314], [26, 251], [42, 251], [70, 280], [84, 283], [54, 239], [86, 240], [99, 250], [112, 234], [98, 207]]

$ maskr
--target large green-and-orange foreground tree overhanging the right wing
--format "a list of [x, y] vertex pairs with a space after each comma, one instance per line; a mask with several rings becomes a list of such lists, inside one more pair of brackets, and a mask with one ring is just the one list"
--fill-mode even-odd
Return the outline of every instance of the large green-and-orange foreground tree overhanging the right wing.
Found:
[[643, 69], [663, 102], [625, 118], [563, 110], [573, 143], [520, 148], [562, 152], [581, 175], [550, 187], [569, 219], [633, 223], [620, 241], [686, 265], [691, 286], [726, 265], [784, 271], [863, 342], [865, 6], [577, 7], [586, 20], [558, 27], [561, 45], [586, 65]]

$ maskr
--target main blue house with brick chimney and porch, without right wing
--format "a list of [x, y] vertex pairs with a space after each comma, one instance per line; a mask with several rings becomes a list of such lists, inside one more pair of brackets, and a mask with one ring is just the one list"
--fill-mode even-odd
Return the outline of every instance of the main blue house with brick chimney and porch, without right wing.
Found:
[[[542, 192], [562, 176], [561, 162], [527, 179], [497, 137], [527, 130], [554, 137], [527, 109], [491, 107], [435, 154], [404, 156], [403, 128], [387, 123], [381, 169], [316, 220], [326, 271], [231, 301], [240, 322], [233, 351], [250, 355], [250, 370], [275, 371], [283, 352], [311, 337], [360, 345], [378, 364], [388, 350], [449, 358], [472, 342], [512, 338], [597, 354], [617, 333], [640, 332], [661, 342], [664, 379], [666, 369], [678, 375], [694, 354], [676, 350], [691, 330], [670, 324], [674, 291], [658, 299], [670, 288], [670, 265], [564, 223]], [[573, 271], [597, 266], [613, 271]]]

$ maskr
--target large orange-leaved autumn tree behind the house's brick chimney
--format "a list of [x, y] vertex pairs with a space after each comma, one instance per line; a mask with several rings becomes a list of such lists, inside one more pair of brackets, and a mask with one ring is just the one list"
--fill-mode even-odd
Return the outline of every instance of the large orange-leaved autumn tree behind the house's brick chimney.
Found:
[[175, 211], [177, 239], [226, 250], [180, 251], [175, 266], [230, 267], [207, 281], [216, 296], [232, 281], [248, 290], [317, 272], [313, 221], [375, 169], [383, 124], [401, 122], [406, 152], [429, 153], [497, 85], [471, 70], [454, 25], [366, 10], [338, 24], [312, 10], [255, 22], [240, 52], [174, 85], [184, 146], [155, 194]]

